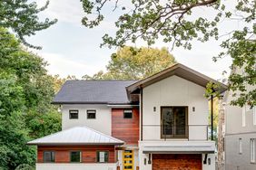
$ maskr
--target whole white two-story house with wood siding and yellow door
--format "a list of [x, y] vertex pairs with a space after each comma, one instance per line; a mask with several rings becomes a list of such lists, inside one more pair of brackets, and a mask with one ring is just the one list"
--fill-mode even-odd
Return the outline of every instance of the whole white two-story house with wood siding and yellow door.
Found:
[[38, 148], [36, 168], [214, 170], [209, 81], [219, 83], [182, 64], [139, 81], [66, 81], [53, 101], [63, 131], [28, 143]]

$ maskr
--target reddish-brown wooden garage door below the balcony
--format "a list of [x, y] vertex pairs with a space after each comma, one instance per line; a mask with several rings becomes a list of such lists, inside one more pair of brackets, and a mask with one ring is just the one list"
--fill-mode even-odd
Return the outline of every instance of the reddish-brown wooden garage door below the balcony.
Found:
[[202, 155], [153, 154], [153, 170], [202, 170]]

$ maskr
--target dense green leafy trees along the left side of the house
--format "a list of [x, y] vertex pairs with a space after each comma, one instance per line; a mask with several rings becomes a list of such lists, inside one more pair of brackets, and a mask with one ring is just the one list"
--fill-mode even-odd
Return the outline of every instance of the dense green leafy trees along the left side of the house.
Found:
[[61, 128], [60, 114], [50, 104], [54, 80], [45, 65], [0, 27], [0, 169], [34, 165], [35, 148], [26, 142]]

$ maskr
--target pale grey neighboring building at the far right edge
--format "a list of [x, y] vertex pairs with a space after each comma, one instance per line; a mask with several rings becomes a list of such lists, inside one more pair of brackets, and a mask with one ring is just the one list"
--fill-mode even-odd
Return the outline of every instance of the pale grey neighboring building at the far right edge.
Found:
[[[242, 69], [232, 72], [243, 74]], [[255, 86], [247, 86], [247, 90], [255, 90]], [[225, 113], [225, 168], [226, 170], [256, 169], [256, 107], [248, 105], [240, 108], [231, 106], [232, 91], [227, 91], [224, 99]]]

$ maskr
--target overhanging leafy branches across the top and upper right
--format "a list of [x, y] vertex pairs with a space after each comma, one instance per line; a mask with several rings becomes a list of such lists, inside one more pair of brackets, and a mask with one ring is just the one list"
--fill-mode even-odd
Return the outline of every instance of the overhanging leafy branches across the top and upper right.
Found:
[[[229, 77], [229, 90], [240, 91], [238, 99], [231, 104], [243, 106], [256, 105], [256, 90], [246, 91], [245, 85], [256, 85], [255, 53], [256, 24], [254, 0], [234, 1], [234, 9], [225, 6], [222, 0], [133, 0], [130, 4], [120, 5], [118, 0], [82, 0], [85, 16], [82, 24], [94, 28], [103, 22], [108, 3], [113, 3], [112, 12], [120, 14], [115, 22], [117, 32], [114, 36], [103, 35], [102, 45], [123, 46], [125, 42], [136, 42], [138, 39], [153, 44], [157, 39], [170, 42], [173, 46], [192, 49], [192, 40], [209, 41], [211, 37], [220, 38], [218, 26], [223, 19], [239, 20], [241, 29], [230, 30], [226, 40], [222, 42], [223, 51], [213, 60], [224, 56], [232, 59], [231, 69], [245, 66], [246, 74], [232, 73]], [[197, 8], [205, 7], [215, 11], [215, 16], [193, 15]], [[120, 10], [121, 9], [121, 10]], [[123, 13], [121, 12], [123, 11]], [[96, 15], [94, 15], [96, 14]], [[214, 14], [212, 12], [212, 14]], [[192, 16], [195, 19], [192, 19]]]

